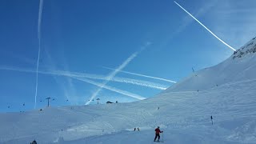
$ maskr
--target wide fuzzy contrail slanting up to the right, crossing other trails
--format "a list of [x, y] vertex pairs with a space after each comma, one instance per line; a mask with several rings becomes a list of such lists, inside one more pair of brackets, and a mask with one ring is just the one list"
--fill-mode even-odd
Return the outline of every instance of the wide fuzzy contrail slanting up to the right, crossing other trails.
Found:
[[145, 45], [145, 46], [142, 46], [141, 50], [135, 52], [134, 54], [131, 54], [130, 57], [127, 58], [125, 62], [122, 62], [122, 65], [118, 66], [118, 68], [117, 68], [116, 70], [112, 71], [112, 72], [107, 76], [107, 80], [102, 83], [102, 86], [100, 86], [100, 87], [98, 88], [98, 90], [96, 90], [96, 91], [94, 92], [94, 94], [90, 97], [90, 100], [89, 100], [88, 102], [86, 102], [86, 105], [89, 105], [89, 104], [90, 104], [90, 102], [98, 95], [98, 93], [102, 90], [102, 87], [103, 87], [103, 86], [106, 86], [106, 84], [110, 81], [110, 79], [114, 78], [114, 76], [115, 76], [116, 74], [118, 74], [118, 72], [119, 72], [120, 70], [122, 70], [123, 68], [125, 68], [125, 67], [130, 63], [130, 61], [132, 61], [135, 57], [137, 57], [137, 55], [138, 55], [139, 53], [142, 52], [142, 50], [145, 50], [146, 47], [147, 47], [147, 46], [150, 46], [150, 45], [151, 45], [151, 42], [146, 42], [146, 45]]

